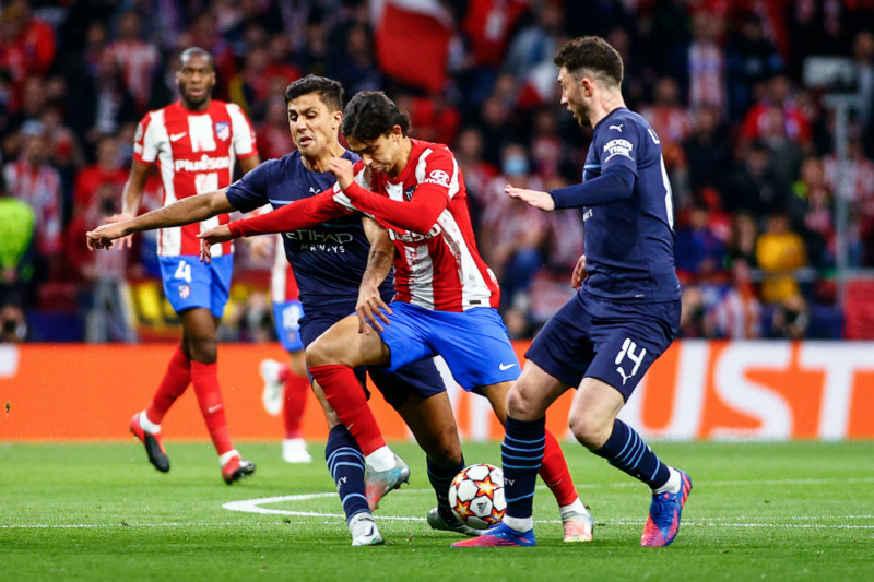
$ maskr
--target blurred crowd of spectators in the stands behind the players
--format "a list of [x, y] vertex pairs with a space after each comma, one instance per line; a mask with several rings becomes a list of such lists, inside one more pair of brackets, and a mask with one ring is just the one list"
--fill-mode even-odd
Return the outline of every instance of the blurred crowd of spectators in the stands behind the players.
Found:
[[[874, 325], [848, 332], [835, 276], [839, 249], [846, 266], [874, 266], [874, 0], [394, 2], [427, 9], [445, 33], [445, 67], [424, 81], [397, 72], [394, 60], [415, 59], [424, 40], [381, 25], [392, 3], [4, 2], [2, 340], [133, 342], [173, 324], [154, 237], [91, 253], [84, 233], [120, 209], [137, 123], [176, 98], [175, 59], [190, 46], [213, 55], [213, 96], [250, 116], [262, 159], [294, 147], [283, 95], [307, 73], [341, 81], [347, 96], [385, 90], [410, 111], [413, 136], [449, 144], [510, 334], [530, 337], [571, 293], [582, 219], [503, 189], [579, 181], [591, 130], [559, 105], [552, 58], [588, 34], [623, 55], [626, 103], [661, 139], [682, 335], [874, 336]], [[839, 87], [855, 99], [847, 162], [823, 99], [831, 87], [804, 84], [811, 56], [841, 57], [852, 71]], [[162, 200], [157, 178], [150, 183], [144, 211]], [[839, 198], [849, 209], [840, 240]], [[238, 250], [224, 338], [270, 338], [269, 264]], [[871, 304], [865, 293], [847, 296]]]

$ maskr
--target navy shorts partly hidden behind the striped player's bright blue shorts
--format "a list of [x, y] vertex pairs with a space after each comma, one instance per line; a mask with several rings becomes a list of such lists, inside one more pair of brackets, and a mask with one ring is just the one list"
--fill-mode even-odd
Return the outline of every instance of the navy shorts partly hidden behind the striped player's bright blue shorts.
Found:
[[[354, 306], [353, 306], [354, 308]], [[300, 338], [308, 346], [328, 331], [331, 325], [351, 314], [349, 309], [324, 309], [316, 312], [307, 311], [300, 319]], [[353, 311], [354, 312], [354, 311]], [[433, 358], [422, 359], [389, 372], [386, 368], [368, 366], [355, 368], [355, 375], [364, 385], [365, 372], [370, 373], [374, 385], [379, 389], [392, 408], [397, 409], [406, 399], [415, 394], [423, 399], [446, 392], [442, 376], [434, 365]], [[365, 389], [366, 392], [366, 389]], [[368, 394], [369, 396], [369, 394]]]

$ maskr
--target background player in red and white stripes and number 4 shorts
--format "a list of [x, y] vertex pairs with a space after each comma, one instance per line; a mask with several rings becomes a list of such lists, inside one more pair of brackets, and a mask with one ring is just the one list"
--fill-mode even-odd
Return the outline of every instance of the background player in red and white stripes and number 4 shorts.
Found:
[[[213, 100], [215, 70], [209, 52], [192, 47], [179, 56], [176, 72], [178, 102], [150, 111], [137, 128], [133, 163], [125, 185], [120, 222], [137, 215], [145, 181], [153, 165], [164, 183], [164, 206], [214, 192], [231, 185], [236, 162], [244, 173], [260, 163], [255, 131], [243, 110]], [[145, 444], [149, 460], [158, 471], [169, 471], [161, 442], [161, 421], [188, 384], [194, 387], [200, 412], [220, 455], [222, 477], [231, 484], [255, 472], [255, 465], [234, 449], [227, 430], [224, 403], [216, 373], [216, 337], [233, 271], [233, 246], [216, 248], [217, 261], [198, 261], [198, 233], [226, 224], [227, 214], [185, 226], [162, 228], [157, 253], [164, 293], [182, 321], [182, 340], [149, 407], [131, 419], [131, 431]], [[102, 248], [91, 242], [92, 248]], [[120, 247], [130, 244], [121, 239]]]

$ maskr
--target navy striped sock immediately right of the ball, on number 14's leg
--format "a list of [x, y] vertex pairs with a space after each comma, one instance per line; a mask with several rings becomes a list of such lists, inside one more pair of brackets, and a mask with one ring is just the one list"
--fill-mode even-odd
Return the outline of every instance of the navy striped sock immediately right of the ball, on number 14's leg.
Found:
[[534, 483], [546, 446], [546, 418], [529, 423], [507, 416], [505, 428], [507, 433], [500, 446], [500, 460], [507, 515], [528, 519], [533, 512]]

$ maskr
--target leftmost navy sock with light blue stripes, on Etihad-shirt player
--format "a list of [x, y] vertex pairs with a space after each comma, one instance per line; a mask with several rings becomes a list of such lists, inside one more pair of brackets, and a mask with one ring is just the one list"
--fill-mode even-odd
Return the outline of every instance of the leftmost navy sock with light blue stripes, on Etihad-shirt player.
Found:
[[343, 425], [335, 426], [328, 433], [324, 460], [336, 484], [346, 521], [356, 513], [369, 511], [364, 495], [364, 453]]

